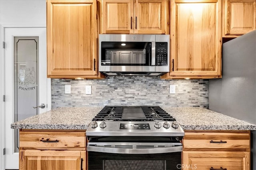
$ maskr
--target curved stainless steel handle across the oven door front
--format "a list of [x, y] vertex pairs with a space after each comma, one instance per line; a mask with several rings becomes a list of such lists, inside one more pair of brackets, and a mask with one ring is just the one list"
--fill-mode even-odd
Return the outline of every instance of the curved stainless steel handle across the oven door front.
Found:
[[182, 146], [164, 147], [164, 148], [139, 148], [139, 149], [87, 146], [87, 151], [117, 153], [117, 154], [156, 154], [156, 153], [181, 152]]

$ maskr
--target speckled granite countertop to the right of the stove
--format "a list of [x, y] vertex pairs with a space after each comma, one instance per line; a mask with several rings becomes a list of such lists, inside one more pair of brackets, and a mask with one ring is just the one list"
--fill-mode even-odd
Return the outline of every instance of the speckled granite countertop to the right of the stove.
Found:
[[202, 107], [162, 107], [183, 130], [256, 130], [256, 125]]

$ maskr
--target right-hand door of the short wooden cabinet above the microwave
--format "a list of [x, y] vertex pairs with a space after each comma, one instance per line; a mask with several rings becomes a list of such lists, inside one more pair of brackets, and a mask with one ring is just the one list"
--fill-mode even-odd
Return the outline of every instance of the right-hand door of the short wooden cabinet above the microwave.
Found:
[[166, 0], [136, 0], [134, 4], [134, 33], [166, 34]]

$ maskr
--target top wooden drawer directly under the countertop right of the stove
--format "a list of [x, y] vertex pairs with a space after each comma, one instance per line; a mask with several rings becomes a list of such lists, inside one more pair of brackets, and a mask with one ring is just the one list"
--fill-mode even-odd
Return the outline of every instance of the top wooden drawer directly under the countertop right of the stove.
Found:
[[250, 149], [250, 133], [185, 132], [184, 150], [190, 149]]

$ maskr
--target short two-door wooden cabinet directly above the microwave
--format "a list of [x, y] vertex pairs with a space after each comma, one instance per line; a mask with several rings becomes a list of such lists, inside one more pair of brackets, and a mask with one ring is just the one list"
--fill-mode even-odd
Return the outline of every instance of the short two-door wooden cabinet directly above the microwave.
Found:
[[100, 33], [169, 34], [169, 0], [99, 0]]

